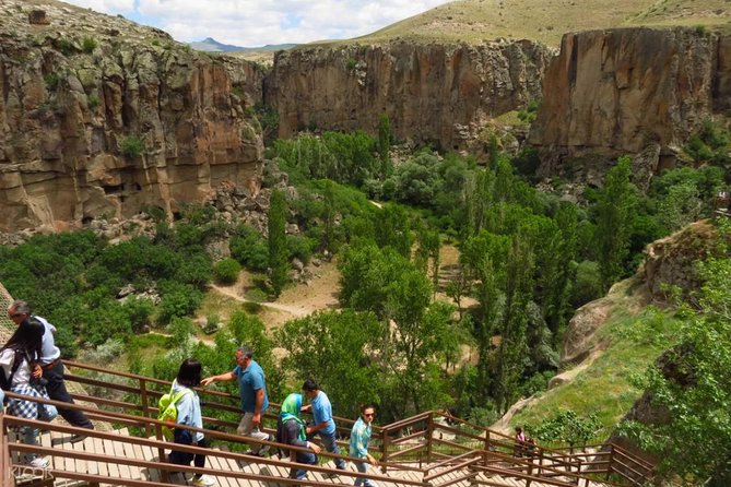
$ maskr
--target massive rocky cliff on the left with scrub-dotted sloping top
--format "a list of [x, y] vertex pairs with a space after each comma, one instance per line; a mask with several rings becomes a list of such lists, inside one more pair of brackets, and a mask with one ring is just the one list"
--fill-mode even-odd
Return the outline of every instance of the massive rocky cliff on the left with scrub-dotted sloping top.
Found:
[[3, 0], [0, 17], [0, 230], [258, 191], [254, 64], [52, 0]]

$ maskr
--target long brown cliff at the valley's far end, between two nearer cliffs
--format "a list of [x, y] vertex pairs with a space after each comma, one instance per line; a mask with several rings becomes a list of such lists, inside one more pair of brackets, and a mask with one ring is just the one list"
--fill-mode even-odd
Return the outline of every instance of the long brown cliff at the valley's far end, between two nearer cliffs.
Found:
[[279, 114], [280, 136], [375, 133], [386, 114], [397, 139], [469, 149], [492, 117], [540, 96], [553, 55], [528, 40], [299, 48], [278, 54], [264, 98]]

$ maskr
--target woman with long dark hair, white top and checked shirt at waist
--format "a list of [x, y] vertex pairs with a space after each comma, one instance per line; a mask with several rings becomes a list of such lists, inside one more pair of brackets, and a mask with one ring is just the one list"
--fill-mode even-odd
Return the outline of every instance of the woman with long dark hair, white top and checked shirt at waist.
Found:
[[[0, 367], [5, 384], [11, 392], [31, 397], [48, 399], [46, 388], [40, 383], [40, 371], [37, 365], [40, 357], [40, 344], [45, 326], [38, 320], [28, 318], [23, 321], [8, 343], [0, 348]], [[39, 404], [33, 400], [8, 400], [8, 414], [26, 419], [50, 421], [58, 412], [48, 404]], [[23, 442], [38, 444], [38, 430], [30, 426], [20, 428]], [[45, 468], [48, 461], [34, 453], [25, 453], [24, 460], [34, 467]]]

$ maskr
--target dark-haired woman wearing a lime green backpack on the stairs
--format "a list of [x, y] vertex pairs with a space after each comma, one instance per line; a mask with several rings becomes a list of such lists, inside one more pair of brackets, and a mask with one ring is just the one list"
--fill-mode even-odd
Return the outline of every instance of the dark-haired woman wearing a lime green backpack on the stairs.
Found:
[[[180, 365], [178, 377], [173, 381], [170, 389], [170, 396], [177, 408], [176, 424], [191, 426], [193, 428], [203, 428], [203, 417], [201, 415], [201, 405], [198, 394], [193, 388], [198, 387], [201, 381], [201, 363], [188, 358]], [[208, 440], [202, 432], [190, 431], [188, 429], [175, 428], [173, 438], [178, 444], [190, 444], [199, 448], [208, 448]], [[205, 466], [205, 455], [193, 454], [173, 450], [168, 456], [170, 463], [176, 465], [190, 465], [193, 462], [199, 468]], [[196, 474], [192, 479], [192, 485], [197, 486], [214, 486], [215, 480], [203, 474]]]

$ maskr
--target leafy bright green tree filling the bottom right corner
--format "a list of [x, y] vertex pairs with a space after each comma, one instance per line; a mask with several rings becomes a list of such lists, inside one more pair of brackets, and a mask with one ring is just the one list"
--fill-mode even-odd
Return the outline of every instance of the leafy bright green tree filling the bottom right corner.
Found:
[[628, 421], [623, 431], [661, 458], [660, 472], [688, 484], [731, 483], [731, 228], [723, 222], [720, 257], [699, 264], [700, 308], [683, 305], [679, 345], [668, 351], [637, 385], [646, 389], [659, 419]]

